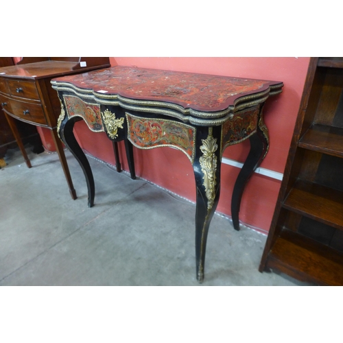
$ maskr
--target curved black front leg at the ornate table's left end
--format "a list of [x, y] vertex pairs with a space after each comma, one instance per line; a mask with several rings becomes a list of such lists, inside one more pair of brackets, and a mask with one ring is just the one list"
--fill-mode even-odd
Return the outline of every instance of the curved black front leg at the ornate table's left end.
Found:
[[94, 197], [95, 197], [95, 185], [94, 185], [94, 178], [91, 166], [84, 154], [83, 150], [81, 149], [78, 141], [76, 141], [75, 136], [73, 134], [73, 127], [75, 121], [80, 120], [78, 117], [72, 117], [68, 120], [66, 116], [62, 123], [60, 124], [60, 139], [62, 139], [63, 143], [68, 147], [71, 154], [76, 158], [78, 163], [84, 172], [84, 177], [86, 178], [87, 188], [88, 188], [88, 206], [92, 207], [94, 204]]

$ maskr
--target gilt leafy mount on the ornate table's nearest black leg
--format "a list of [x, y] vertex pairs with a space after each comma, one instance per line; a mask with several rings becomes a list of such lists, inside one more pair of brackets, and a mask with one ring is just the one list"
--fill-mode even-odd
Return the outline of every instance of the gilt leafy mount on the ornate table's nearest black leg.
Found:
[[206, 139], [202, 139], [202, 145], [200, 150], [202, 151], [202, 156], [199, 158], [200, 167], [202, 170], [202, 178], [204, 179], [204, 187], [206, 191], [207, 198], [207, 209], [211, 210], [213, 202], [215, 199], [215, 185], [217, 181], [215, 179], [215, 172], [217, 171], [217, 156], [215, 152], [217, 151], [217, 139], [213, 138], [212, 128], [209, 128], [209, 136]]

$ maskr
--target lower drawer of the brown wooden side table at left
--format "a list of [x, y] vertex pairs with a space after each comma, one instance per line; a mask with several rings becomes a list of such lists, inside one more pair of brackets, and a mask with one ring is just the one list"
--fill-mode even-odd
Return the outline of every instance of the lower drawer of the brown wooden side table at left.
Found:
[[47, 120], [40, 104], [21, 102], [20, 100], [10, 99], [10, 113], [19, 119], [30, 121], [41, 125], [47, 125]]

